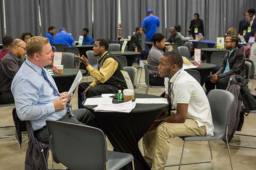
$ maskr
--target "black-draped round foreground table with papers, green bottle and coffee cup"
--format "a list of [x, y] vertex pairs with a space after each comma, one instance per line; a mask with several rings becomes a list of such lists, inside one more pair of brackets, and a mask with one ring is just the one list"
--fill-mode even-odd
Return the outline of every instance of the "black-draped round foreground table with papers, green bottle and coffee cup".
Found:
[[[148, 94], [135, 94], [135, 98], [161, 97]], [[113, 103], [120, 102], [117, 99], [113, 99]], [[158, 113], [167, 106], [168, 104], [136, 104], [136, 107], [130, 113], [95, 112], [93, 108], [96, 106], [84, 107], [95, 115], [104, 133], [114, 147], [114, 151], [132, 154], [134, 157], [134, 166], [137, 170], [150, 170], [140, 152], [138, 142], [147, 132]], [[126, 165], [123, 169], [132, 170], [132, 164]]]

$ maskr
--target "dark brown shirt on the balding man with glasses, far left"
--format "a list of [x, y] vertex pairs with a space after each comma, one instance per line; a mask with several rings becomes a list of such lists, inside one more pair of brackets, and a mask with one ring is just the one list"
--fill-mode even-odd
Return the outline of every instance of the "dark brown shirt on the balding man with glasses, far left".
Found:
[[20, 68], [20, 59], [12, 52], [0, 62], [0, 92], [10, 92], [12, 79]]

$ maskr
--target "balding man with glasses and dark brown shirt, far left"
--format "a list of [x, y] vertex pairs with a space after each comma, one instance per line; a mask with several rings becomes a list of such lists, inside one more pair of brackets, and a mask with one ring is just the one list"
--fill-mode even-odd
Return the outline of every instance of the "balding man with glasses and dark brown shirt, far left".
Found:
[[26, 43], [21, 39], [14, 39], [11, 50], [0, 62], [0, 104], [14, 103], [11, 92], [12, 79], [21, 66], [21, 60], [26, 55]]

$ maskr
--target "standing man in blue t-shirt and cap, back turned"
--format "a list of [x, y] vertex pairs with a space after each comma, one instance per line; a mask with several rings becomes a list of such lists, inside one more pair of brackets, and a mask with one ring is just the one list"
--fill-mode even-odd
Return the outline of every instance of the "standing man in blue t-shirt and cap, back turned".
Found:
[[[146, 34], [145, 41], [152, 41], [152, 37], [155, 33], [157, 33], [157, 27], [160, 26], [160, 20], [157, 16], [154, 16], [153, 10], [149, 9], [147, 11], [147, 17], [144, 18], [142, 23], [143, 32]], [[148, 46], [146, 45], [146, 51], [150, 51]]]

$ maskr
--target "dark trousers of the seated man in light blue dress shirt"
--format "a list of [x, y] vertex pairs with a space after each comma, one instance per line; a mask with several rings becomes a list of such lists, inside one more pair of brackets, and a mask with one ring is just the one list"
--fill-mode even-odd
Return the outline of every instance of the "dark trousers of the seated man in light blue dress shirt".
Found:
[[[72, 110], [72, 113], [74, 114], [75, 117], [72, 117], [68, 112], [62, 118], [58, 119], [58, 121], [76, 123], [79, 125], [89, 125], [92, 127], [100, 128], [98, 121], [89, 110], [75, 109], [75, 110]], [[35, 131], [34, 133], [38, 141], [42, 143], [49, 143], [48, 129], [46, 128], [46, 126], [40, 129], [40, 132], [36, 133]]]

